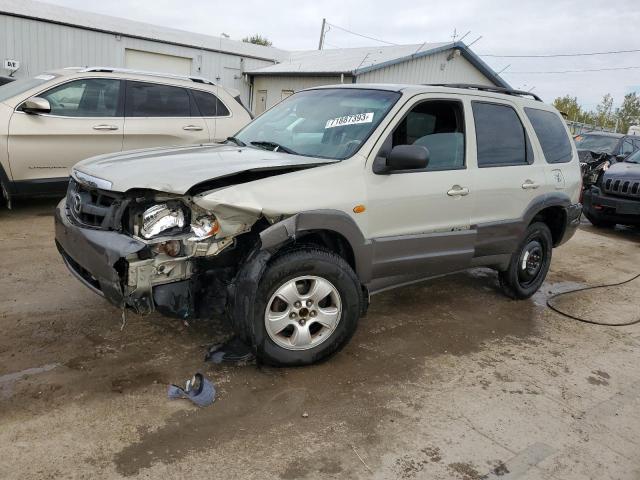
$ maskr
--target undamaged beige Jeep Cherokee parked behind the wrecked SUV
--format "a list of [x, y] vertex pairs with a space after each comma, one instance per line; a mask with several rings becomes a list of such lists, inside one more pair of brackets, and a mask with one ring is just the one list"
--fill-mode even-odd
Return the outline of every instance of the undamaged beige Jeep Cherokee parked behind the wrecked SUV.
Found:
[[238, 95], [199, 77], [110, 67], [2, 85], [3, 196], [9, 205], [21, 196], [62, 196], [71, 167], [94, 155], [224, 140], [251, 120]]

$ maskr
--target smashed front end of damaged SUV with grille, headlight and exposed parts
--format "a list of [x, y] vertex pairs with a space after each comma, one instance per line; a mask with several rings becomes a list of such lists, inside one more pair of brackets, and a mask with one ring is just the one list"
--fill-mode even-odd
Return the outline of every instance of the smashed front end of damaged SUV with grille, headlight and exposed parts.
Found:
[[[269, 174], [244, 174], [237, 180]], [[215, 186], [223, 188], [221, 183]], [[259, 245], [259, 232], [283, 216], [267, 217], [249, 206], [219, 204], [205, 209], [198, 204], [200, 190], [210, 193], [212, 186], [199, 185], [186, 195], [151, 190], [119, 193], [71, 179], [66, 206], [73, 223], [125, 234], [134, 245], [114, 265], [119, 278], [114, 288], [121, 292], [123, 308], [138, 313], [157, 309], [181, 318], [224, 310], [226, 286]], [[217, 288], [210, 288], [212, 284]], [[104, 285], [97, 288], [108, 291]]]

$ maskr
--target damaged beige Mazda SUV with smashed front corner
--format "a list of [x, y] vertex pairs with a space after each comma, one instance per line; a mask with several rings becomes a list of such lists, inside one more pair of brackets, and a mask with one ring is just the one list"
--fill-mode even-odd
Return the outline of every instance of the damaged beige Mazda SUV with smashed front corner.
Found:
[[528, 298], [580, 219], [558, 112], [490, 87], [305, 90], [225, 144], [91, 158], [56, 213], [70, 271], [114, 305], [226, 313], [258, 357], [338, 351], [369, 296], [471, 267]]

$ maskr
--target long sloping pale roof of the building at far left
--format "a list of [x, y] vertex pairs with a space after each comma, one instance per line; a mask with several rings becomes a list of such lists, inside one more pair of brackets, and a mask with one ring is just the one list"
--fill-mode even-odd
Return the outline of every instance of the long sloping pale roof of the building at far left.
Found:
[[161, 27], [124, 18], [100, 15], [59, 7], [33, 0], [0, 0], [0, 14], [33, 18], [46, 22], [70, 25], [105, 33], [154, 40], [174, 45], [232, 53], [265, 60], [284, 60], [289, 53], [273, 47], [263, 47], [223, 37]]

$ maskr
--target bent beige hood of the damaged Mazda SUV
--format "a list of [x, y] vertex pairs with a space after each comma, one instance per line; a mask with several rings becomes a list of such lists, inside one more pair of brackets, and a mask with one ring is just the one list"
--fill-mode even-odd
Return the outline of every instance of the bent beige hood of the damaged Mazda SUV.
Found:
[[228, 144], [163, 147], [88, 158], [74, 170], [111, 182], [111, 190], [133, 188], [185, 194], [208, 180], [246, 171], [304, 168], [335, 160]]

